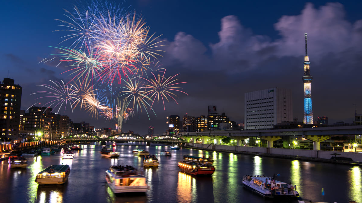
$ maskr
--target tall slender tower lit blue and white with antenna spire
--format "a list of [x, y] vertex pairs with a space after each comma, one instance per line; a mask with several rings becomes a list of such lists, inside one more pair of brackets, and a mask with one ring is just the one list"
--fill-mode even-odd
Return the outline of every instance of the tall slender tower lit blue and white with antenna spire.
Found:
[[304, 56], [304, 76], [302, 77], [304, 83], [304, 122], [305, 124], [313, 124], [312, 112], [312, 75], [310, 75], [310, 62], [307, 51], [307, 33], [304, 34], [306, 39], [306, 56]]

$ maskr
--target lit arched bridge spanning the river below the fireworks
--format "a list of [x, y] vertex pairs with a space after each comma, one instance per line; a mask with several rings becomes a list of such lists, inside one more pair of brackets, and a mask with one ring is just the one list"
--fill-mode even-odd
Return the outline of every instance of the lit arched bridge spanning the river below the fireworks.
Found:
[[64, 137], [67, 142], [149, 142], [149, 143], [185, 143], [185, 140], [177, 136], [163, 135], [159, 137], [153, 137], [152, 139], [146, 139], [140, 135], [132, 133], [119, 133], [109, 137], [98, 137], [88, 133], [74, 134], [68, 137]]

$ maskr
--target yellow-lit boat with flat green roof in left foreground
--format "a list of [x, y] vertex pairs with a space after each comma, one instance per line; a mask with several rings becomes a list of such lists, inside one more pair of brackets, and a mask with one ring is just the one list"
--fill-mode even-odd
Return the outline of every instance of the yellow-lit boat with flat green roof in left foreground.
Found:
[[35, 182], [39, 185], [64, 184], [70, 174], [69, 165], [51, 165], [37, 174]]

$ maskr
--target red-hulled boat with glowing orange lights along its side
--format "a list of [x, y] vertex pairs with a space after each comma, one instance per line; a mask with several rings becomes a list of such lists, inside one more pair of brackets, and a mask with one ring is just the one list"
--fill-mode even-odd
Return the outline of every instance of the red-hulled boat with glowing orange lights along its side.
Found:
[[192, 161], [179, 161], [178, 168], [182, 172], [191, 174], [191, 175], [211, 175], [215, 172], [215, 167], [210, 164], [201, 164]]

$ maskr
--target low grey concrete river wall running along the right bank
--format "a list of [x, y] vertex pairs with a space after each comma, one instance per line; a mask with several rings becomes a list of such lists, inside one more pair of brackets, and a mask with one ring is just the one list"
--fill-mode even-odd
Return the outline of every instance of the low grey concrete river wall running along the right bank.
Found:
[[300, 156], [310, 158], [331, 159], [332, 154], [337, 153], [337, 157], [348, 157], [353, 161], [362, 162], [362, 153], [356, 152], [336, 152], [336, 151], [320, 151], [320, 150], [295, 150], [295, 149], [281, 149], [281, 148], [265, 148], [265, 147], [244, 147], [244, 146], [228, 146], [228, 145], [214, 145], [214, 144], [196, 144], [185, 143], [185, 146], [193, 146], [204, 148], [206, 150], [223, 150], [235, 152], [251, 152], [262, 153], [271, 155], [286, 155], [286, 156]]

